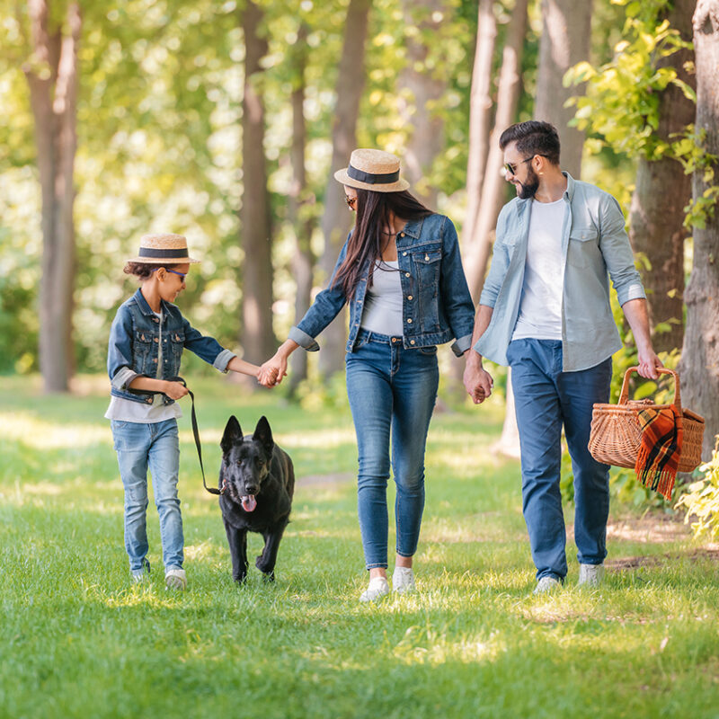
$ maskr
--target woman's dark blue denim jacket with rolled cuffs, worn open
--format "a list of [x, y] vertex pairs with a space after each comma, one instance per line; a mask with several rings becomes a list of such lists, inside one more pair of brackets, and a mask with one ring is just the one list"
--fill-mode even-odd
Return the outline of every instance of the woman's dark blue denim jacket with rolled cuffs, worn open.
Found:
[[[320, 292], [306, 315], [288, 333], [301, 347], [319, 350], [315, 337], [330, 324], [347, 302], [334, 277], [347, 254], [347, 237], [328, 288]], [[461, 356], [472, 343], [475, 306], [466, 285], [459, 255], [457, 231], [444, 215], [430, 215], [408, 222], [397, 235], [397, 261], [402, 283], [404, 348], [417, 349], [449, 342]], [[354, 351], [367, 295], [369, 262], [363, 268], [350, 301], [348, 352]]]

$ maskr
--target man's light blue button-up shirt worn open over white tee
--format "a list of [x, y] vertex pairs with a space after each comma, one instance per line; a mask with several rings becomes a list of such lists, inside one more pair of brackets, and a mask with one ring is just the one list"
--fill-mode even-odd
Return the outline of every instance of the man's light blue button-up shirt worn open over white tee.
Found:
[[[610, 277], [619, 304], [646, 297], [624, 228], [619, 203], [608, 192], [569, 173], [562, 235], [562, 351], [564, 371], [594, 367], [621, 348], [609, 304]], [[497, 219], [492, 266], [479, 299], [493, 307], [492, 320], [475, 351], [506, 365], [507, 347], [517, 324], [527, 261], [532, 200], [515, 198]]]

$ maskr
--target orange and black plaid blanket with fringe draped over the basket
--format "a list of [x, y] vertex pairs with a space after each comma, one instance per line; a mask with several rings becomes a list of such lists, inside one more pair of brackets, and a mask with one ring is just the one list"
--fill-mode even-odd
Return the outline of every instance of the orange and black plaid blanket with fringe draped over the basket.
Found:
[[642, 442], [636, 457], [636, 476], [645, 487], [670, 500], [681, 456], [681, 414], [670, 404], [662, 409], [640, 410], [638, 416]]

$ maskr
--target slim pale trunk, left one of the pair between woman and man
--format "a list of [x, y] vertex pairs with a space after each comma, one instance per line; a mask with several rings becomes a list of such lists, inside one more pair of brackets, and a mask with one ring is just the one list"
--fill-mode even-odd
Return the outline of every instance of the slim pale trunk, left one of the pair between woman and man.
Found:
[[462, 247], [475, 243], [475, 223], [484, 183], [492, 127], [492, 63], [497, 38], [493, 0], [480, 0], [477, 18], [475, 66], [469, 98], [469, 152], [466, 164], [466, 216], [462, 227]]

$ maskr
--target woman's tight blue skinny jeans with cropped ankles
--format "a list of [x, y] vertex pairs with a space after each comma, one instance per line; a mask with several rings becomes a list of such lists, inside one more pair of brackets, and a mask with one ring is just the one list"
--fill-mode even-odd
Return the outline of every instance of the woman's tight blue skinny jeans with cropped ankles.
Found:
[[404, 350], [401, 338], [360, 330], [355, 351], [345, 362], [357, 432], [365, 563], [368, 569], [386, 567], [390, 433], [397, 487], [396, 552], [413, 556], [424, 509], [424, 448], [439, 384], [437, 348]]

